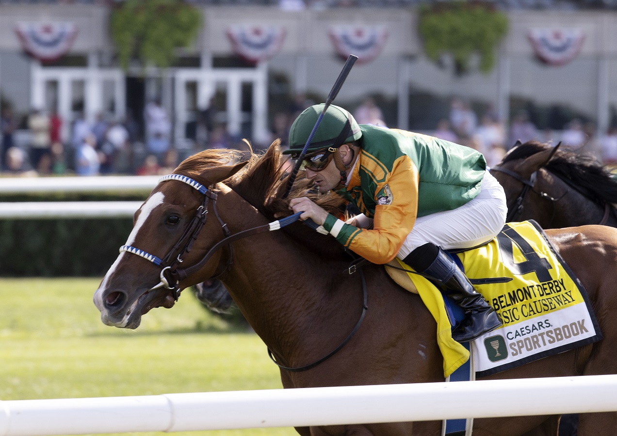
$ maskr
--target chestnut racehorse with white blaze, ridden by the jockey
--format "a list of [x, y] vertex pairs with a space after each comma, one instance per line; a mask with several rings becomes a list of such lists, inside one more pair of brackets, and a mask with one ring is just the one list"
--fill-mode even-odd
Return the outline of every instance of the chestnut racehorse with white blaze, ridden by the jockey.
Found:
[[[152, 308], [173, 306], [178, 297], [175, 277], [181, 279], [178, 289], [184, 289], [218, 276], [281, 365], [297, 368], [324, 357], [344, 342], [365, 313], [355, 335], [331, 358], [307, 371], [281, 369], [285, 388], [444, 381], [433, 317], [419, 296], [395, 285], [383, 266], [368, 265], [364, 276], [350, 275], [350, 257], [342, 246], [300, 223], [273, 232], [249, 230], [268, 227], [275, 214], [287, 211], [280, 200], [286, 180], [281, 182], [278, 147], [253, 156], [248, 164], [230, 164], [232, 159], [225, 151], [203, 151], [176, 168], [175, 174], [182, 176], [152, 191], [136, 212], [126, 242], [139, 251], [121, 252], [94, 294], [102, 321], [137, 328]], [[183, 176], [198, 184], [183, 182]], [[206, 194], [204, 187], [210, 187]], [[586, 287], [604, 339], [484, 379], [617, 373], [617, 325], [611, 318], [617, 309], [617, 229], [587, 226], [547, 233]], [[211, 251], [227, 235], [238, 239]], [[557, 425], [558, 416], [476, 419], [474, 436], [554, 436]], [[608, 436], [616, 428], [617, 413], [591, 413], [581, 417], [579, 435]], [[441, 422], [297, 431], [439, 436]]]

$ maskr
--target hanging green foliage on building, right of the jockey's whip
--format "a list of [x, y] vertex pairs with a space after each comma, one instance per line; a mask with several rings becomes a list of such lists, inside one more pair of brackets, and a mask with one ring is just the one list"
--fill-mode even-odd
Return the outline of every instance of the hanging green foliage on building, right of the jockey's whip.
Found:
[[489, 73], [495, 50], [508, 32], [508, 18], [485, 3], [438, 2], [420, 9], [418, 30], [429, 59], [438, 62], [443, 53], [450, 53], [457, 72], [464, 73], [471, 55], [478, 53], [479, 70]]

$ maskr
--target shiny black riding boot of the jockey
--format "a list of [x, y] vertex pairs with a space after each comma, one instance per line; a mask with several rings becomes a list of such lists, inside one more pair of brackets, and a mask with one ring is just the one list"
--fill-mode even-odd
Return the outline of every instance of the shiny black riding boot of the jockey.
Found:
[[471, 341], [502, 325], [495, 310], [475, 291], [454, 260], [438, 246], [424, 244], [408, 254], [403, 262], [441, 283], [450, 291], [448, 296], [465, 311], [465, 319], [452, 331], [455, 341]]

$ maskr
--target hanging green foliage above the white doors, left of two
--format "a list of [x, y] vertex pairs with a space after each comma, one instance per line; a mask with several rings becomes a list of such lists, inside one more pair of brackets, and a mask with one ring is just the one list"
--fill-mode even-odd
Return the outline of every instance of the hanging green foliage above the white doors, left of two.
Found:
[[110, 34], [118, 61], [169, 67], [175, 49], [188, 47], [202, 25], [201, 10], [183, 0], [125, 0], [112, 10]]

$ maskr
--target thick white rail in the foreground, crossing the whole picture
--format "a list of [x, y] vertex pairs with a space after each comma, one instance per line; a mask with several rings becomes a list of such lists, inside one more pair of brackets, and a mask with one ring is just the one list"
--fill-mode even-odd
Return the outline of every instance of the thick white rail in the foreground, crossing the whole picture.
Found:
[[[463, 400], [464, 399], [464, 400]], [[617, 411], [617, 375], [0, 402], [0, 436]]]

